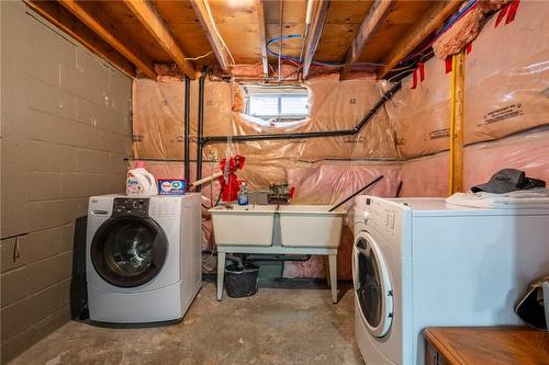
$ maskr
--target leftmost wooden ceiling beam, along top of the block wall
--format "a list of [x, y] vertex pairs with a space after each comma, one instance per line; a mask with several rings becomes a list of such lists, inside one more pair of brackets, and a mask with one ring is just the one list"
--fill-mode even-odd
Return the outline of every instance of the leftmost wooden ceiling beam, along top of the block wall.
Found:
[[25, 3], [53, 25], [81, 43], [90, 52], [105, 58], [125, 75], [132, 78], [135, 77], [135, 68], [132, 62], [57, 2], [25, 0]]

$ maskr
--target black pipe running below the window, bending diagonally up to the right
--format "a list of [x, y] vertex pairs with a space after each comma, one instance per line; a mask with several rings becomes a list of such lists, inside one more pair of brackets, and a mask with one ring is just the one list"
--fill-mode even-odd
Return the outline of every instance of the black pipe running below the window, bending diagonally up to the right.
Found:
[[[274, 140], [274, 139], [301, 139], [301, 138], [320, 138], [320, 137], [339, 137], [339, 136], [354, 136], [359, 133], [378, 113], [378, 111], [383, 106], [383, 104], [393, 98], [394, 93], [399, 91], [402, 87], [401, 82], [394, 84], [389, 91], [386, 91], [380, 100], [372, 106], [372, 109], [365, 115], [365, 117], [352, 128], [343, 130], [323, 130], [323, 132], [302, 132], [302, 133], [277, 133], [277, 134], [265, 134], [265, 135], [246, 135], [246, 136], [233, 136], [232, 140], [234, 142], [240, 141], [251, 141], [251, 140]], [[210, 136], [199, 139], [199, 145], [205, 146], [210, 144], [222, 144], [226, 142], [226, 136]]]

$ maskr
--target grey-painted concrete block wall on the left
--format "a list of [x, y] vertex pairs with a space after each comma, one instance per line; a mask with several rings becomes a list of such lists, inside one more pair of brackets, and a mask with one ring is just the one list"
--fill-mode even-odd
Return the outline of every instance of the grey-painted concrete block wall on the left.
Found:
[[24, 3], [0, 7], [4, 364], [70, 318], [76, 219], [124, 191], [132, 83]]

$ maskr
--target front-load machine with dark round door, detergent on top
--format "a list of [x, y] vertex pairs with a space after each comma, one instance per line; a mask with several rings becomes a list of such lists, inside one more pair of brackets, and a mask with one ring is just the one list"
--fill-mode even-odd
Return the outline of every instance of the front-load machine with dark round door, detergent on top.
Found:
[[201, 286], [200, 194], [92, 196], [87, 228], [90, 320], [179, 321]]

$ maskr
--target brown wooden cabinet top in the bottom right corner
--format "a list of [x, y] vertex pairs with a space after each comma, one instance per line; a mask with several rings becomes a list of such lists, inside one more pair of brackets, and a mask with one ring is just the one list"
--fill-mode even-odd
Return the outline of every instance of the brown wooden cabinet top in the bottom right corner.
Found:
[[549, 365], [549, 333], [526, 327], [428, 328], [426, 365]]

